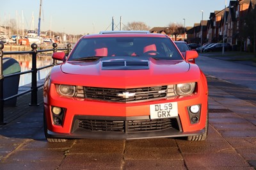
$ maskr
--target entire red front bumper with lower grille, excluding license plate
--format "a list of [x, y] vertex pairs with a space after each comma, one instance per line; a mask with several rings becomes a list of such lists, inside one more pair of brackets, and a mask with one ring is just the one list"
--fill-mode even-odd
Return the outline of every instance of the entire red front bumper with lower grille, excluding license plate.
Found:
[[[145, 139], [182, 137], [204, 134], [207, 118], [207, 93], [191, 97], [120, 104], [77, 98], [64, 98], [52, 90], [45, 95], [45, 133], [52, 138]], [[150, 119], [150, 105], [177, 102], [178, 116], [162, 120]], [[189, 106], [200, 105], [197, 123], [191, 123]], [[51, 107], [64, 108], [60, 125], [54, 125]], [[157, 123], [156, 123], [157, 121]], [[90, 123], [89, 123], [90, 122]], [[100, 122], [100, 124], [97, 124]], [[120, 127], [116, 127], [116, 124]], [[120, 125], [122, 124], [122, 125]], [[140, 130], [130, 130], [130, 125]], [[94, 127], [93, 127], [94, 126]], [[100, 126], [97, 129], [97, 126]], [[109, 126], [104, 128], [104, 126]], [[120, 131], [116, 131], [121, 129]]]

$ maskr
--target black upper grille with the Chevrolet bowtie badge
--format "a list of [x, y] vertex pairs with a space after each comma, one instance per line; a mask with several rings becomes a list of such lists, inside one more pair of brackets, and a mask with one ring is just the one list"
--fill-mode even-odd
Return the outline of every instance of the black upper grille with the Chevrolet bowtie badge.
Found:
[[[115, 89], [84, 87], [84, 97], [108, 102], [145, 102], [175, 96], [174, 86], [154, 86], [146, 88]], [[170, 95], [170, 93], [172, 93]]]

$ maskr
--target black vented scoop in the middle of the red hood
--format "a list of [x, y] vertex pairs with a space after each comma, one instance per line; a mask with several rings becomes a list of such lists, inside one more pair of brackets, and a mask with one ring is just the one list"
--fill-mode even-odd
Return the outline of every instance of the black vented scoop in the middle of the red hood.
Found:
[[148, 61], [102, 61], [102, 70], [148, 70]]

